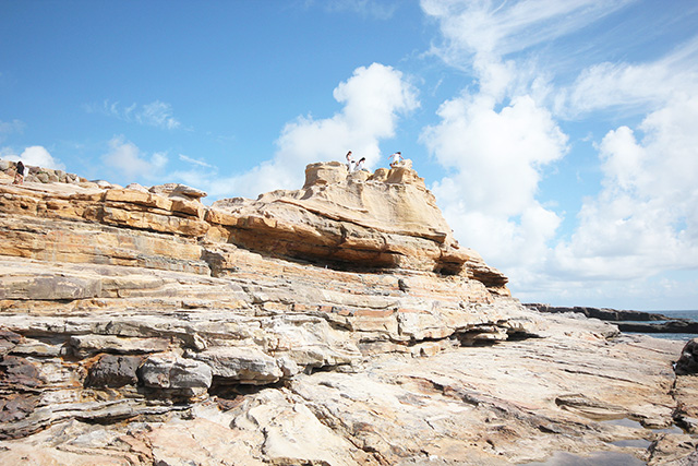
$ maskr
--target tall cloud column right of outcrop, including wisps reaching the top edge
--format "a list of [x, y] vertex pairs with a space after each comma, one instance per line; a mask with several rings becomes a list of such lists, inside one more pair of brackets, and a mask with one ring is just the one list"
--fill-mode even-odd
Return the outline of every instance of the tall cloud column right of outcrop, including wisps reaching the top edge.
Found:
[[[441, 24], [444, 43], [435, 51], [450, 65], [471, 68], [478, 80], [477, 88], [445, 101], [441, 122], [421, 135], [450, 171], [433, 190], [457, 238], [519, 279], [547, 255], [562, 220], [537, 194], [545, 166], [567, 152], [567, 136], [537, 99], [540, 81], [521, 85], [530, 70], [503, 55], [593, 15], [589, 2], [563, 3], [422, 2]], [[571, 12], [583, 14], [574, 24], [555, 21]], [[525, 34], [532, 25], [539, 26], [537, 37]]]

